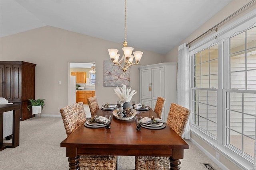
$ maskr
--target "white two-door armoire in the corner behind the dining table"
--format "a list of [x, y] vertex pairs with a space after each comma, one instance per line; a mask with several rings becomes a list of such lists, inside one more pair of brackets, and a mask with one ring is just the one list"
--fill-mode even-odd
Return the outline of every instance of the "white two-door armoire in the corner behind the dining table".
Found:
[[166, 99], [163, 119], [167, 120], [171, 103], [176, 103], [177, 63], [140, 66], [140, 103], [153, 110], [158, 97]]

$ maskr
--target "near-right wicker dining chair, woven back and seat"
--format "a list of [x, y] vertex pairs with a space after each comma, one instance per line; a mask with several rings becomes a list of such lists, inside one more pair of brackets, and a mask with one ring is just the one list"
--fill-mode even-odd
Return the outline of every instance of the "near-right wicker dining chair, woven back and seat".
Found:
[[[179, 106], [178, 104], [171, 104], [166, 124], [169, 125], [182, 139], [189, 114], [189, 109]], [[135, 169], [169, 170], [170, 159], [167, 156], [136, 156]]]

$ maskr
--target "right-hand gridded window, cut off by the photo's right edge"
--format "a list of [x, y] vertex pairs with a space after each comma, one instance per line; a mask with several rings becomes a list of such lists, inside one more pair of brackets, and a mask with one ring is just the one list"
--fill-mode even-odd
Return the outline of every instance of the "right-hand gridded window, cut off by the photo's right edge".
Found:
[[256, 27], [229, 38], [226, 67], [226, 145], [254, 157], [256, 116]]

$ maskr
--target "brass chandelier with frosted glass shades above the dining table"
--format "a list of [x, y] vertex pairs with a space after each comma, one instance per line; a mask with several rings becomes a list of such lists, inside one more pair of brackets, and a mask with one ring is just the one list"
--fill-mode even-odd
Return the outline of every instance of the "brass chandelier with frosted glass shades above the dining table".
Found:
[[[124, 0], [124, 41], [123, 41], [123, 48], [124, 54], [122, 58], [119, 60], [120, 54], [118, 54], [118, 49], [108, 49], [111, 62], [114, 63], [117, 66], [120, 66], [120, 68], [125, 73], [126, 70], [135, 64], [140, 63], [140, 59], [142, 57], [143, 52], [141, 51], [135, 51], [133, 52], [134, 56], [132, 55], [132, 47], [127, 47], [127, 41], [126, 41], [126, 0]], [[133, 59], [135, 58], [136, 63], [132, 63]], [[119, 61], [118, 61], [119, 60]], [[123, 66], [122, 66], [123, 62]]]

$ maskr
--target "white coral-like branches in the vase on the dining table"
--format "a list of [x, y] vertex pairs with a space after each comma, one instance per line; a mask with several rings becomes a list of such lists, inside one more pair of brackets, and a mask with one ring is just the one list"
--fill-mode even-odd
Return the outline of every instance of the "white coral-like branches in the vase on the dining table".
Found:
[[122, 102], [130, 102], [132, 100], [132, 96], [136, 94], [135, 90], [132, 90], [132, 87], [126, 88], [125, 84], [122, 84], [122, 87], [116, 87], [114, 89], [115, 94]]

